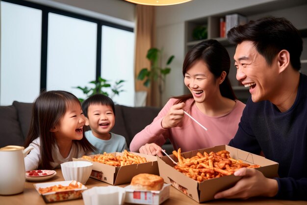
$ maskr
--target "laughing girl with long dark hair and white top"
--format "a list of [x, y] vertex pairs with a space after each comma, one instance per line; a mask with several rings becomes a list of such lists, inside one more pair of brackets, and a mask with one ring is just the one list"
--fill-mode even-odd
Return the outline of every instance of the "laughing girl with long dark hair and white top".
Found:
[[70, 92], [54, 90], [41, 93], [34, 102], [25, 147], [34, 149], [25, 158], [26, 171], [58, 168], [93, 151], [83, 137], [81, 104]]

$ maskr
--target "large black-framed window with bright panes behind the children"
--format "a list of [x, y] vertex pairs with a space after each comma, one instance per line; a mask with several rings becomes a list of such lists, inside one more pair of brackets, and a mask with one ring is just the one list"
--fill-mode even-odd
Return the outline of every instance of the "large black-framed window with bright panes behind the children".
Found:
[[24, 0], [0, 3], [0, 105], [33, 102], [40, 90], [85, 98], [75, 87], [101, 76], [125, 80], [113, 100], [134, 106], [132, 28]]

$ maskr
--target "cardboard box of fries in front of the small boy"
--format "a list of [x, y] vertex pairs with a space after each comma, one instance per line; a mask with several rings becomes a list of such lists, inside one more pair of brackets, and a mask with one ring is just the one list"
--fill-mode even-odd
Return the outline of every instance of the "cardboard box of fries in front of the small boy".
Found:
[[73, 161], [92, 162], [90, 177], [112, 185], [129, 183], [133, 176], [141, 173], [159, 175], [156, 156], [127, 150], [73, 158]]

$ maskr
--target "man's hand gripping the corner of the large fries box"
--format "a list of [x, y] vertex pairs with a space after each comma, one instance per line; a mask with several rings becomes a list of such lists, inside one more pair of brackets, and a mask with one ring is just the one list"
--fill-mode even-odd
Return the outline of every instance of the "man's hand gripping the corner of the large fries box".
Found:
[[256, 169], [241, 168], [234, 176], [243, 176], [233, 187], [215, 194], [214, 199], [248, 199], [255, 196], [274, 197], [278, 192], [275, 179], [266, 178]]

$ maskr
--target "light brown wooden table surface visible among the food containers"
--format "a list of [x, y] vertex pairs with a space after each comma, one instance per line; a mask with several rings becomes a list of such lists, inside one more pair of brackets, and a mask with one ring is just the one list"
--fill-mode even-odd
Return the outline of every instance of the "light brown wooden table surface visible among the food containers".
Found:
[[[56, 176], [53, 176], [47, 182], [51, 181], [63, 181], [64, 178], [62, 176], [61, 169], [56, 170]], [[34, 189], [33, 184], [40, 182], [29, 182], [25, 183], [25, 190], [23, 193], [11, 195], [11, 196], [3, 196], [0, 195], [0, 205], [45, 205], [43, 198], [37, 193]], [[89, 178], [86, 182], [86, 186], [88, 188], [94, 186], [108, 186], [110, 184], [104, 183], [102, 181]], [[119, 185], [121, 187], [125, 187], [128, 184]], [[166, 200], [162, 205], [198, 205], [196, 201], [189, 198], [185, 194], [181, 193], [174, 187], [170, 187], [170, 198]], [[56, 202], [51, 203], [50, 205], [84, 205], [82, 199], [65, 201], [65, 202]], [[273, 200], [267, 198], [254, 198], [249, 200], [214, 200], [205, 202], [202, 204], [206, 205], [306, 205], [306, 201], [283, 201], [283, 200]]]

